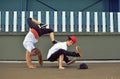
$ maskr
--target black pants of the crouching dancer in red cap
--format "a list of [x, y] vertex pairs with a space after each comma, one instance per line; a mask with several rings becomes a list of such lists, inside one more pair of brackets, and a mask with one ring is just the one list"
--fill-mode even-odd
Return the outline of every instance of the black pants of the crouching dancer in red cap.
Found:
[[73, 57], [79, 57], [80, 55], [76, 52], [70, 52], [70, 51], [66, 51], [63, 49], [59, 49], [58, 51], [56, 51], [55, 53], [53, 53], [50, 58], [48, 58], [49, 61], [56, 61], [60, 55], [64, 55], [64, 61], [66, 63], [68, 63], [70, 60], [67, 56], [73, 56]]

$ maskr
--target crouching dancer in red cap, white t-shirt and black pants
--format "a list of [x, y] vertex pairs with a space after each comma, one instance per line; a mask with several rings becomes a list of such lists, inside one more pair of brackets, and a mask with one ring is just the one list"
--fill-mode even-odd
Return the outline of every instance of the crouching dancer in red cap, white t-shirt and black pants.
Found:
[[75, 36], [69, 36], [65, 42], [58, 42], [54, 44], [48, 51], [47, 59], [48, 61], [54, 62], [58, 60], [59, 69], [65, 69], [62, 62], [65, 61], [67, 65], [75, 62], [75, 60], [69, 60], [68, 56], [80, 57], [82, 54], [80, 52], [71, 52], [67, 48], [74, 45], [77, 42]]

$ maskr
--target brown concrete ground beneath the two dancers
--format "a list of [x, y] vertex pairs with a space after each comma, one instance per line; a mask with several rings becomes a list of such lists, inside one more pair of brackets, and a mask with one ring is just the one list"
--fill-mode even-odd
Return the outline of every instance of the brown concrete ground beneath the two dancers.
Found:
[[80, 63], [59, 70], [57, 63], [29, 69], [25, 63], [0, 63], [0, 79], [120, 79], [120, 63], [87, 63], [89, 69], [78, 69]]

